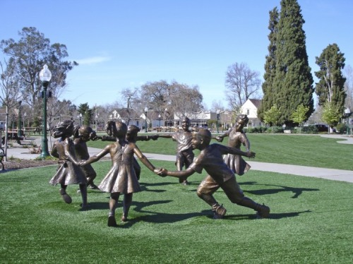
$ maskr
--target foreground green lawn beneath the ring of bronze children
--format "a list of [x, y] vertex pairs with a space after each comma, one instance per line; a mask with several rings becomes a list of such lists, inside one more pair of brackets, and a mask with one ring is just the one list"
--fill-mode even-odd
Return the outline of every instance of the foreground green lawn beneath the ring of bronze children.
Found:
[[[251, 141], [261, 148], [261, 138]], [[96, 184], [110, 164], [93, 164]], [[239, 184], [270, 206], [270, 218], [256, 220], [253, 210], [217, 191], [227, 215], [212, 220], [196, 196], [205, 174], [181, 186], [142, 169], [143, 191], [133, 196], [130, 221], [117, 228], [107, 227], [108, 193], [89, 191], [83, 212], [78, 186], [68, 186], [72, 204], [61, 200], [59, 186], [48, 183], [56, 166], [1, 173], [0, 263], [352, 263], [353, 184], [250, 170]]]

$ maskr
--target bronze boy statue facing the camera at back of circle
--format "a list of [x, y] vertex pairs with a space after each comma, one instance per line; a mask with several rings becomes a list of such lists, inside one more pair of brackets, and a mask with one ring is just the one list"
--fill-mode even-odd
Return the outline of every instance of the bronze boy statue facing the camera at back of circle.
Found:
[[[172, 138], [172, 140], [177, 141], [177, 160], [175, 165], [178, 171], [183, 170], [183, 167], [187, 169], [193, 163], [193, 157], [195, 157], [191, 145], [193, 135], [189, 130], [190, 119], [188, 117], [184, 117], [181, 127], [183, 128], [182, 131], [177, 131], [171, 135], [159, 135], [160, 138]], [[183, 177], [179, 178], [179, 183], [183, 185], [189, 184], [187, 179]]]

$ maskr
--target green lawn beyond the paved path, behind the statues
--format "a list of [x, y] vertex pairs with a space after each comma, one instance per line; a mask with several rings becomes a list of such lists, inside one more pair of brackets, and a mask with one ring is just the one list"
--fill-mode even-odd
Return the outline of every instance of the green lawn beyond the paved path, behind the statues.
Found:
[[[140, 133], [143, 135], [143, 133]], [[294, 164], [330, 169], [353, 170], [353, 145], [337, 143], [338, 139], [304, 135], [247, 134], [256, 162]], [[211, 143], [217, 143], [212, 140]], [[222, 144], [227, 145], [228, 138]], [[107, 141], [88, 142], [92, 148], [104, 148]], [[142, 152], [175, 155], [177, 143], [169, 138], [138, 141]], [[198, 155], [198, 151], [195, 151]]]

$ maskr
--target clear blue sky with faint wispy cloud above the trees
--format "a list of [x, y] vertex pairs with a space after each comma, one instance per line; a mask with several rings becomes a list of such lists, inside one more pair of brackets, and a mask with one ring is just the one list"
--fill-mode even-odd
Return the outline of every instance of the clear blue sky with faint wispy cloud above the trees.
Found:
[[[337, 43], [353, 65], [352, 0], [299, 0], [312, 73], [315, 56]], [[68, 74], [61, 99], [111, 104], [120, 91], [157, 80], [198, 85], [208, 108], [227, 105], [225, 73], [238, 62], [261, 73], [268, 54], [269, 11], [280, 0], [0, 0], [0, 39], [35, 27], [66, 44]], [[316, 78], [314, 77], [314, 80]]]

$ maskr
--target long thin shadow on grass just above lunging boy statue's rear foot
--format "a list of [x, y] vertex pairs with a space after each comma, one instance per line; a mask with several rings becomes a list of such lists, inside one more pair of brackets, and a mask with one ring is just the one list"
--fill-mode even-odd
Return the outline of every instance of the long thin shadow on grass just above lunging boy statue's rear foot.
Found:
[[279, 188], [261, 189], [261, 190], [256, 190], [256, 191], [246, 191], [243, 189], [244, 192], [252, 193], [256, 196], [266, 195], [266, 194], [274, 194], [274, 193], [280, 193], [280, 192], [286, 191], [286, 192], [294, 193], [292, 198], [298, 198], [301, 195], [301, 193], [303, 193], [304, 191], [320, 191], [320, 189], [318, 189], [318, 188], [294, 188], [294, 187], [289, 187], [289, 186], [273, 185], [273, 184], [257, 184], [256, 181], [246, 181], [246, 182], [243, 182], [239, 185], [252, 185], [252, 186], [261, 185], [261, 186], [279, 187]]

